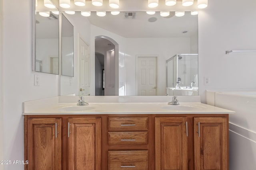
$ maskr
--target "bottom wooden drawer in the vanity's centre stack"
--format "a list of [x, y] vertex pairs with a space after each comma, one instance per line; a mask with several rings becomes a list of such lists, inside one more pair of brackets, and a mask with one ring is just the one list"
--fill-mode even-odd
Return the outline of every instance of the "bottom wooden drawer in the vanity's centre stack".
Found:
[[108, 151], [108, 170], [148, 170], [148, 150]]

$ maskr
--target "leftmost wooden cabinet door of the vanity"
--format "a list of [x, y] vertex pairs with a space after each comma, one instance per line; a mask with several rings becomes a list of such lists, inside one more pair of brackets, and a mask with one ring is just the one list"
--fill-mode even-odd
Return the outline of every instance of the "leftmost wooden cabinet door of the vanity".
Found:
[[61, 118], [28, 119], [28, 170], [61, 170]]

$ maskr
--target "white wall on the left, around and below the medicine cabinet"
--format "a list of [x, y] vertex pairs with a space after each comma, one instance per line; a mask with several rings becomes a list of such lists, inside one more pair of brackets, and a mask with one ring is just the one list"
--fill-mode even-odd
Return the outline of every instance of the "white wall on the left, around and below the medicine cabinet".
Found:
[[[36, 73], [40, 86], [34, 86], [31, 9], [32, 0], [3, 0], [4, 160], [24, 160], [22, 102], [58, 95], [57, 75]], [[4, 170], [22, 169], [23, 164], [4, 165]]]

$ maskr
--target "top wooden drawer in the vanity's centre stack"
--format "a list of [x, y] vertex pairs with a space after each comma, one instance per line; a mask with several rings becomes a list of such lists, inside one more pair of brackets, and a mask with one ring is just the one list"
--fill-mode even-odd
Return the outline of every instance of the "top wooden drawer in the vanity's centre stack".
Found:
[[109, 131], [147, 131], [148, 117], [108, 117]]

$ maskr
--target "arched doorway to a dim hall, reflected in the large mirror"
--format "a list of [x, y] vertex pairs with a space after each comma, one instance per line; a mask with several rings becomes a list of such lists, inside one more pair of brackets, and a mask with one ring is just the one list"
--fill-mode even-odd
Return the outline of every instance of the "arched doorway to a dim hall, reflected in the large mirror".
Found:
[[112, 38], [95, 37], [95, 96], [118, 96], [118, 53]]

